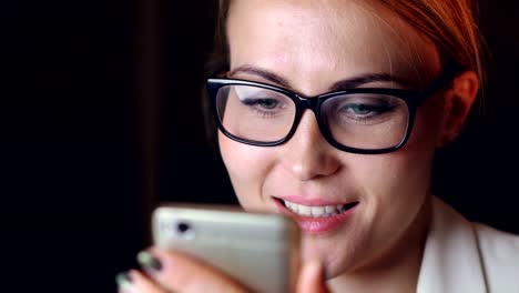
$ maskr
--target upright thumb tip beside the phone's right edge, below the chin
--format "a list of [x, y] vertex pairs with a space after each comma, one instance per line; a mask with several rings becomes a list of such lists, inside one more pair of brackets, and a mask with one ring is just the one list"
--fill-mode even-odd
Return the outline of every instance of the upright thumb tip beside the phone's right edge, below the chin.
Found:
[[297, 293], [327, 293], [329, 292], [324, 277], [323, 264], [317, 261], [306, 263], [297, 281]]

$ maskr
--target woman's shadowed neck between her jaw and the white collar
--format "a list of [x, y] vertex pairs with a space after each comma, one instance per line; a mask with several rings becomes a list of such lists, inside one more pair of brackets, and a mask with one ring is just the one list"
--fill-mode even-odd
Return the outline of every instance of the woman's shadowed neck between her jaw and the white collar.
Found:
[[431, 196], [427, 196], [406, 233], [377, 264], [329, 280], [332, 292], [416, 292], [431, 209]]

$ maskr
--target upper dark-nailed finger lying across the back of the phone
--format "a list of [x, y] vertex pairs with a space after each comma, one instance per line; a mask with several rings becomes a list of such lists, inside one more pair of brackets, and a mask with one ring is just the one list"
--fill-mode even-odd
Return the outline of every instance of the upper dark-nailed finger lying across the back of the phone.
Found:
[[164, 289], [173, 292], [246, 292], [236, 281], [200, 260], [183, 253], [153, 249], [138, 256], [144, 270]]

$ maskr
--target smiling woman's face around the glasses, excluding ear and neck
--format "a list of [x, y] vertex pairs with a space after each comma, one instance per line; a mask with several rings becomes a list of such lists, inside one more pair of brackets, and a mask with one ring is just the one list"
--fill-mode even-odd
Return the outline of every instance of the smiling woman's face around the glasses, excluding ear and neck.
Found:
[[[273, 83], [302, 95], [328, 92], [339, 81], [386, 73], [395, 81], [364, 88], [420, 89], [440, 72], [431, 42], [367, 1], [233, 1], [227, 33], [231, 78]], [[266, 74], [265, 74], [266, 73]], [[398, 81], [398, 82], [397, 82]], [[276, 84], [281, 85], [281, 84]], [[354, 154], [328, 144], [312, 111], [278, 146], [253, 146], [218, 135], [223, 160], [244, 209], [287, 212], [357, 203], [330, 218], [295, 215], [303, 257], [324, 260], [329, 276], [370, 266], [407, 233], [427, 199], [442, 97], [417, 112], [409, 141], [387, 154]], [[352, 204], [354, 205], [354, 204]]]

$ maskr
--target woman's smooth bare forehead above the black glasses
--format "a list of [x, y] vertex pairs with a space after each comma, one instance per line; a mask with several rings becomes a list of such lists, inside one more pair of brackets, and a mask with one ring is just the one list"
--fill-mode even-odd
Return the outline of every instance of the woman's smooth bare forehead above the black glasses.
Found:
[[435, 46], [376, 1], [235, 0], [227, 36], [231, 68], [260, 67], [307, 91], [364, 73], [419, 85], [440, 68]]

